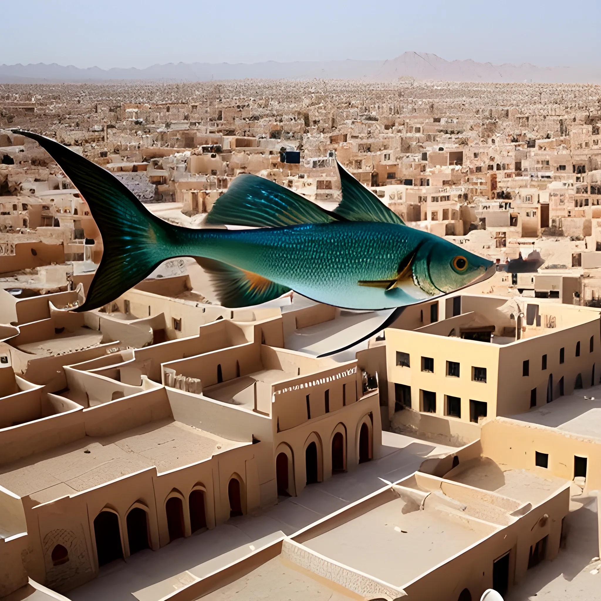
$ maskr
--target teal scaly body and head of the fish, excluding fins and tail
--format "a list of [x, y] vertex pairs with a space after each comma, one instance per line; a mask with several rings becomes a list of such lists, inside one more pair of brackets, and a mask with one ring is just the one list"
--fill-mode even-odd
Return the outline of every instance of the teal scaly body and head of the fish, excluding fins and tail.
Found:
[[[187, 230], [174, 254], [207, 257], [342, 308], [380, 310], [413, 304], [468, 285], [490, 261], [423, 231], [380, 222], [332, 222], [253, 230]], [[406, 282], [389, 286], [413, 257]], [[453, 260], [468, 262], [463, 272]], [[463, 267], [463, 265], [462, 265]], [[361, 283], [359, 283], [361, 282]]]

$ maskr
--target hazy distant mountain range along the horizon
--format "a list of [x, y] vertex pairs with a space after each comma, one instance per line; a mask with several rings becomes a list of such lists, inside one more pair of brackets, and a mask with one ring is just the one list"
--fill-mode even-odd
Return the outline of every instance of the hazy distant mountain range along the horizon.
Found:
[[437, 81], [597, 83], [600, 73], [585, 73], [573, 67], [537, 67], [529, 63], [477, 63], [447, 61], [435, 54], [404, 52], [385, 61], [305, 61], [294, 63], [167, 63], [145, 69], [79, 69], [73, 65], [0, 65], [0, 83], [106, 82], [150, 80], [192, 82], [224, 79], [362, 79], [397, 81], [403, 76]]

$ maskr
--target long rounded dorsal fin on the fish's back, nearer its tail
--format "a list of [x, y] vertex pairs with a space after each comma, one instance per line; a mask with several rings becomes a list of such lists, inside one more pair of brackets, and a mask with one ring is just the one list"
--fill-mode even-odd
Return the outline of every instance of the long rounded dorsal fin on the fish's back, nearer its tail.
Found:
[[284, 227], [327, 224], [337, 216], [258, 175], [238, 175], [207, 215], [207, 224]]

